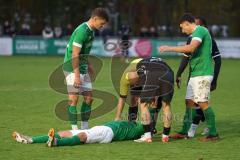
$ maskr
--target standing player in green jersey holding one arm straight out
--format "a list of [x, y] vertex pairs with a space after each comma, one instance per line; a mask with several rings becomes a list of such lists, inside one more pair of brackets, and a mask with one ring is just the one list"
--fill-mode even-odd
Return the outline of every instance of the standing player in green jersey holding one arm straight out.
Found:
[[189, 128], [191, 117], [194, 117], [192, 108], [195, 104], [202, 109], [209, 128], [209, 133], [201, 141], [218, 140], [215, 126], [215, 114], [209, 106], [210, 86], [213, 80], [212, 66], [212, 39], [209, 31], [195, 23], [191, 14], [184, 14], [180, 20], [183, 33], [192, 35], [190, 44], [184, 46], [161, 46], [160, 52], [179, 52], [190, 55], [190, 79], [186, 93], [186, 112], [183, 128]]

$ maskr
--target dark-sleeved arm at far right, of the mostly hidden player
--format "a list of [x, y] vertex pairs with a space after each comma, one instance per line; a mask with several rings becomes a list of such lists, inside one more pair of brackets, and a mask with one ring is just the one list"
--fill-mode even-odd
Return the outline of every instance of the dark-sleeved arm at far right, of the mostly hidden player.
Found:
[[211, 91], [217, 88], [217, 79], [218, 79], [218, 75], [219, 75], [221, 64], [222, 64], [222, 59], [221, 59], [221, 55], [220, 55], [217, 43], [215, 40], [213, 40], [212, 42], [213, 42], [212, 56], [214, 60], [214, 76], [213, 76], [213, 81], [211, 83]]

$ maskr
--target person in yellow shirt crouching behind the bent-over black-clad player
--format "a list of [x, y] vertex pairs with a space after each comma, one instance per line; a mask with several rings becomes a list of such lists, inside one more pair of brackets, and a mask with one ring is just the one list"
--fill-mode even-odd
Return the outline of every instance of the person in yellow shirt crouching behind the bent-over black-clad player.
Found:
[[[137, 119], [137, 114], [138, 114], [138, 96], [132, 95], [129, 90], [131, 90], [132, 87], [138, 85], [138, 79], [135, 77], [131, 77], [131, 72], [136, 71], [136, 66], [138, 62], [140, 62], [142, 58], [135, 59], [131, 61], [128, 65], [128, 67], [124, 70], [122, 77], [120, 79], [120, 97], [118, 99], [118, 104], [117, 104], [117, 112], [116, 112], [116, 117], [115, 120], [121, 120], [122, 117], [122, 111], [126, 102], [126, 98], [128, 94], [131, 96], [131, 105], [129, 106], [128, 109], [128, 120], [129, 121], [135, 121]], [[162, 102], [160, 101], [157, 103], [157, 107], [154, 106], [154, 108], [150, 107], [149, 112], [151, 114], [151, 131], [155, 134], [157, 132], [155, 126], [156, 126], [156, 121], [158, 117], [158, 112], [161, 109]]]

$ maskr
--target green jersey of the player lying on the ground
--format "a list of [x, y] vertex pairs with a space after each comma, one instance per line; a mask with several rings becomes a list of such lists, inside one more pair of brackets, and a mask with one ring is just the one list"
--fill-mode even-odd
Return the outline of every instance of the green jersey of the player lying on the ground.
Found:
[[133, 140], [143, 135], [143, 125], [129, 121], [113, 121], [104, 124], [113, 130], [113, 141]]

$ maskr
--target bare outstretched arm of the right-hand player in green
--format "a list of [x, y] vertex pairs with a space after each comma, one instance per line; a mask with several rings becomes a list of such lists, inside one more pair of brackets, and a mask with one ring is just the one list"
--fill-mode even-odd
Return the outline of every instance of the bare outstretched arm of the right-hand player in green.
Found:
[[190, 44], [184, 46], [161, 46], [159, 47], [160, 52], [178, 52], [184, 54], [192, 54], [201, 44], [201, 41], [192, 39]]

